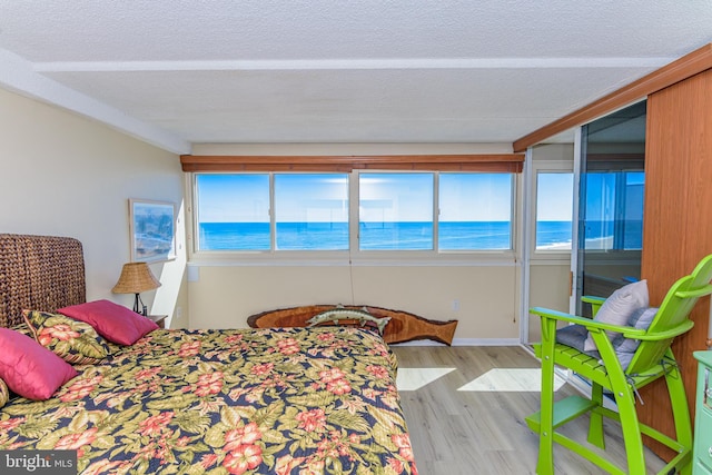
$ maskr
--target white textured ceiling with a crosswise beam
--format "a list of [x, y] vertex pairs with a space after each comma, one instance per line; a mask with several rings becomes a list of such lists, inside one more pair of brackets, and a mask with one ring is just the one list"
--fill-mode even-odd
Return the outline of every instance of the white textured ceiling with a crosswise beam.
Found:
[[711, 0], [0, 0], [0, 86], [184, 154], [512, 142], [711, 41]]

